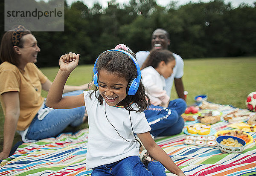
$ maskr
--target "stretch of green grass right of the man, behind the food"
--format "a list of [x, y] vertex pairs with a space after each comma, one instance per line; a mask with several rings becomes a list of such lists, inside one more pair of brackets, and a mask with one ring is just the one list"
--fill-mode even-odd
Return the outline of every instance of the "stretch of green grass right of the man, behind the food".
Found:
[[[245, 108], [245, 99], [256, 91], [256, 58], [207, 58], [184, 61], [183, 84], [187, 103], [195, 95], [207, 94], [208, 101]], [[172, 88], [171, 99], [177, 98]]]

